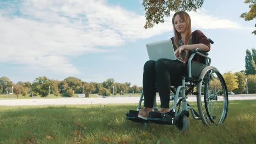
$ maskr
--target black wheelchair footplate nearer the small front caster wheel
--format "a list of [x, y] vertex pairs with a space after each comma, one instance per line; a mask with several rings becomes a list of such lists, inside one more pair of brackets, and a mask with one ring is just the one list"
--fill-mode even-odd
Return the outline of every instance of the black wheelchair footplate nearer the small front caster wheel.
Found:
[[148, 121], [160, 125], [172, 125], [173, 124], [173, 113], [172, 112], [166, 112], [166, 113], [160, 113], [160, 112], [149, 112], [149, 118]]

